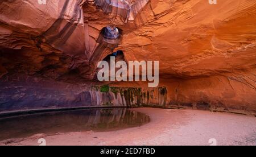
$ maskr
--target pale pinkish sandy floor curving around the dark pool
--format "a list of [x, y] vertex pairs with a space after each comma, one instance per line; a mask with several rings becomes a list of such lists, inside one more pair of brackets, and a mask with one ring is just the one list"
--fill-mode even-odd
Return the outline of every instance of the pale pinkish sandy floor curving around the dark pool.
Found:
[[210, 145], [209, 139], [216, 139], [217, 145], [256, 145], [255, 117], [200, 110], [133, 110], [149, 115], [151, 122], [110, 132], [34, 135], [9, 144], [39, 145], [38, 139], [44, 138], [47, 145]]

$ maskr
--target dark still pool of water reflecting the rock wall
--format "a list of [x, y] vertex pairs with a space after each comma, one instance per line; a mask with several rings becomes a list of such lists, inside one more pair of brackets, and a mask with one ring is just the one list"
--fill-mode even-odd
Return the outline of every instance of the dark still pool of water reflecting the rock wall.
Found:
[[0, 119], [0, 141], [35, 134], [54, 135], [77, 131], [113, 131], [150, 122], [129, 109], [83, 109], [20, 115]]

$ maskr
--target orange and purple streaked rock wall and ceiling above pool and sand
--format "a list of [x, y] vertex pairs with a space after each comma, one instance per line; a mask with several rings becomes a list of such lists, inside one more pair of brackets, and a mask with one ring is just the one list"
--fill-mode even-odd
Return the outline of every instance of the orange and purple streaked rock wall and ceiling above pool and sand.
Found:
[[[255, 17], [250, 0], [1, 1], [1, 111], [108, 102], [255, 114]], [[158, 60], [160, 90], [96, 82], [98, 61], [116, 51]], [[121, 96], [134, 87], [141, 92]]]

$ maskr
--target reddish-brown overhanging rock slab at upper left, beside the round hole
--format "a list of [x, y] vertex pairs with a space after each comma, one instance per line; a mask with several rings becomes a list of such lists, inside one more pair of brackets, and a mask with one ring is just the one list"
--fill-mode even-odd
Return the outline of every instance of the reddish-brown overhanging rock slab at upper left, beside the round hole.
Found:
[[1, 1], [1, 72], [64, 79], [86, 71], [81, 2]]

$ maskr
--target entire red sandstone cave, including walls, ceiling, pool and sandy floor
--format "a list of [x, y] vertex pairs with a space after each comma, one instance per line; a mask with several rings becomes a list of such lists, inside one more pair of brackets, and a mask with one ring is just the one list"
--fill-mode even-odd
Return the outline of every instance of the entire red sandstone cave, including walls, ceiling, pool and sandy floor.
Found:
[[[255, 146], [255, 17], [249, 0], [2, 0], [0, 145]], [[159, 85], [98, 81], [110, 56], [159, 61]]]

